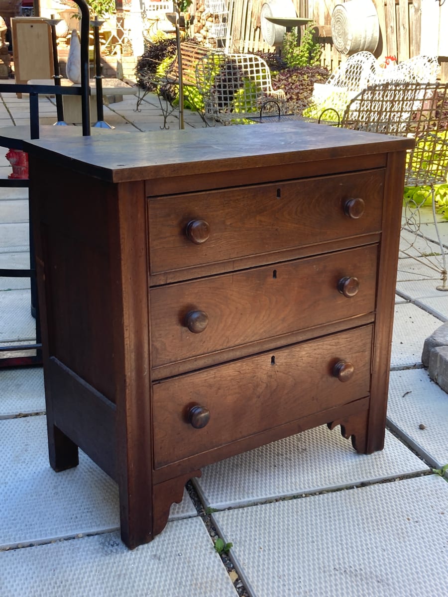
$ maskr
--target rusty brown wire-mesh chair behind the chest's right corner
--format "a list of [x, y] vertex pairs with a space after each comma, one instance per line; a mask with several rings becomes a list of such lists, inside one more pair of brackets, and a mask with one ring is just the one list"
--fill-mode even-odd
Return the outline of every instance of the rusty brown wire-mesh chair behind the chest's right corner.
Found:
[[[429, 187], [441, 255], [439, 259], [430, 249], [428, 253], [431, 256], [419, 252], [417, 257], [411, 252], [417, 236], [422, 237], [419, 208], [426, 202], [425, 195], [422, 199], [413, 198], [406, 202], [403, 229], [415, 236], [408, 247], [401, 248], [401, 252], [437, 270], [442, 281], [438, 290], [448, 290], [446, 255], [438, 231], [434, 189], [435, 184], [446, 183], [448, 175], [448, 84], [384, 82], [372, 85], [349, 102], [341, 126], [415, 138], [415, 147], [409, 151], [407, 158], [404, 184]], [[434, 260], [434, 257], [437, 259]]]

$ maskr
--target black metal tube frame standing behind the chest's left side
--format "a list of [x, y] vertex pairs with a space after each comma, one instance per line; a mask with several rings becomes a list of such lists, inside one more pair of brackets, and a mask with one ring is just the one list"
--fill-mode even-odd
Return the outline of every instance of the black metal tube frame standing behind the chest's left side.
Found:
[[[10, 85], [0, 84], [0, 93], [29, 94], [30, 138], [39, 139], [39, 94], [60, 96], [81, 96], [82, 136], [90, 136], [90, 83], [88, 64], [88, 42], [90, 32], [90, 14], [85, 0], [73, 0], [81, 11], [81, 87], [60, 87], [59, 85]], [[97, 57], [99, 60], [99, 57]], [[99, 73], [97, 73], [98, 75]], [[97, 86], [101, 87], [100, 77], [96, 77]], [[101, 95], [100, 95], [101, 99]], [[1, 130], [0, 130], [1, 136]], [[3, 140], [11, 149], [21, 149], [22, 141], [17, 139]], [[7, 179], [0, 180], [0, 187], [28, 187], [29, 180]], [[31, 214], [29, 216], [29, 250], [30, 269], [0, 269], [0, 276], [5, 278], [30, 278], [31, 281], [31, 313], [36, 319], [35, 344], [22, 344], [0, 347], [2, 352], [23, 352], [35, 350], [35, 355], [8, 356], [0, 358], [1, 367], [17, 367], [24, 365], [38, 365], [42, 363], [41, 327], [39, 321], [39, 303], [36, 285], [36, 260], [32, 233]]]

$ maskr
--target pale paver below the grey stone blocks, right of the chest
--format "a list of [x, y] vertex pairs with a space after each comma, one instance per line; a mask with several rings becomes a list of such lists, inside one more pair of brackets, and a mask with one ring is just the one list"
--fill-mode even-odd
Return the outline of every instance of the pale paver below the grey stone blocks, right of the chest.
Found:
[[448, 463], [448, 395], [425, 369], [392, 371], [388, 425], [434, 468]]

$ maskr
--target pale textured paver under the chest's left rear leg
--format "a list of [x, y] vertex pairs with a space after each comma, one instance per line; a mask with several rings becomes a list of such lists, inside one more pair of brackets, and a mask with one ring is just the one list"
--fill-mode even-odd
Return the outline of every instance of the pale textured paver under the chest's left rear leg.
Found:
[[[43, 415], [0, 420], [0, 470], [0, 548], [119, 528], [118, 486], [82, 451], [77, 467], [50, 468]], [[184, 501], [171, 514], [196, 516]]]

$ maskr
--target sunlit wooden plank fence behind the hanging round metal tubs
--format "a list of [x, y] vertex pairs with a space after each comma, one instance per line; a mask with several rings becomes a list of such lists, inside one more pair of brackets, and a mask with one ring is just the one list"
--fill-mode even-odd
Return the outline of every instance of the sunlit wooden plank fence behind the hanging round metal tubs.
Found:
[[[263, 40], [257, 15], [265, 0], [228, 0], [228, 43], [232, 51], [274, 50]], [[373, 0], [380, 26], [375, 56], [395, 56], [403, 61], [418, 54], [441, 57], [442, 78], [448, 75], [448, 0]], [[293, 0], [297, 15], [312, 19], [318, 41], [323, 44], [321, 63], [334, 70], [345, 60], [333, 45], [331, 18], [342, 0]], [[443, 26], [444, 25], [444, 26]]]

